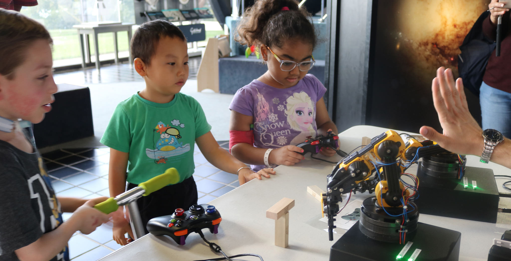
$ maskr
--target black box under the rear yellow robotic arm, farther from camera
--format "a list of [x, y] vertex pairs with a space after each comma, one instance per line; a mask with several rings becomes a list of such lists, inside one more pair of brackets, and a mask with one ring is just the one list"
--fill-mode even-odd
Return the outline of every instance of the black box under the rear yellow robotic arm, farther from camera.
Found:
[[[443, 179], [427, 175], [419, 164], [419, 198], [414, 202], [422, 214], [496, 223], [499, 191], [489, 168], [466, 167], [463, 179]], [[477, 187], [473, 187], [476, 181]]]

